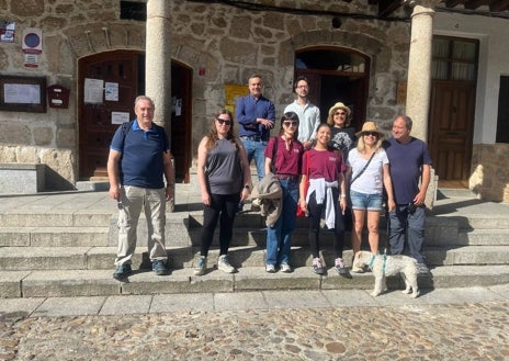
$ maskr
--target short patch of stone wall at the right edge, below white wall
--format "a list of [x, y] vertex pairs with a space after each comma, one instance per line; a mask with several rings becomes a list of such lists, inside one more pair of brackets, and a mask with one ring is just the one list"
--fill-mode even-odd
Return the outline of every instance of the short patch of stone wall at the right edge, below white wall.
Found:
[[479, 199], [509, 202], [509, 144], [475, 144], [472, 157], [470, 189]]

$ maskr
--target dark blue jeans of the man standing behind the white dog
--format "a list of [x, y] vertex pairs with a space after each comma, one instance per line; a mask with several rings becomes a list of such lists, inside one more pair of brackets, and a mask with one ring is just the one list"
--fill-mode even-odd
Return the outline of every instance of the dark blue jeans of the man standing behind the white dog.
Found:
[[425, 242], [426, 211], [419, 206], [410, 213], [406, 205], [397, 205], [388, 213], [389, 235], [392, 255], [406, 253], [418, 262], [423, 262], [421, 255]]

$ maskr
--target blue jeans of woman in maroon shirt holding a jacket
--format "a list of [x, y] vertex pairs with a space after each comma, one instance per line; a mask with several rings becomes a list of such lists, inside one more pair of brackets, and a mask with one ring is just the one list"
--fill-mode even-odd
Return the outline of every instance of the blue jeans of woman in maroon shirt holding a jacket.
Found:
[[298, 181], [280, 180], [283, 189], [282, 212], [273, 227], [267, 227], [267, 264], [290, 263], [292, 232], [295, 229]]

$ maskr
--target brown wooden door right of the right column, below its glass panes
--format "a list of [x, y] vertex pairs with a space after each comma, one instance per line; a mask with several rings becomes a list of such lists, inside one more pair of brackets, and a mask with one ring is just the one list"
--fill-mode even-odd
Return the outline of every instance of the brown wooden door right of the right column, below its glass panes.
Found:
[[464, 184], [468, 179], [474, 110], [474, 83], [433, 82], [428, 144], [440, 181], [457, 181]]

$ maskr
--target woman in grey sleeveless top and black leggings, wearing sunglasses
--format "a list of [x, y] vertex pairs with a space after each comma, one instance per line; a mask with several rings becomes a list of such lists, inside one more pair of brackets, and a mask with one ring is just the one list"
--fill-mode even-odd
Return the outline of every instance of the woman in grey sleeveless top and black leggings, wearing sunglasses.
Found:
[[234, 116], [223, 109], [211, 123], [211, 132], [197, 148], [197, 180], [202, 193], [203, 228], [200, 256], [194, 274], [205, 273], [208, 249], [219, 219], [219, 259], [217, 268], [226, 273], [237, 270], [228, 259], [234, 219], [239, 201], [251, 189], [251, 172], [242, 142], [234, 136]]

